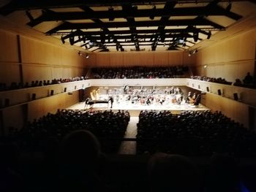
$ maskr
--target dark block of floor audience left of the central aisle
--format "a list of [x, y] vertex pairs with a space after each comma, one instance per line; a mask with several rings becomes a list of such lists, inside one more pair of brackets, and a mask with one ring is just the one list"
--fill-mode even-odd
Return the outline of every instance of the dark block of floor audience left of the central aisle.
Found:
[[48, 113], [27, 123], [20, 130], [10, 130], [9, 137], [24, 150], [44, 152], [58, 145], [69, 132], [82, 129], [91, 131], [101, 142], [113, 140], [110, 143], [113, 145], [107, 146], [107, 143], [103, 146], [105, 151], [116, 153], [121, 142], [119, 138], [124, 137], [128, 122], [127, 111], [58, 110], [56, 114]]

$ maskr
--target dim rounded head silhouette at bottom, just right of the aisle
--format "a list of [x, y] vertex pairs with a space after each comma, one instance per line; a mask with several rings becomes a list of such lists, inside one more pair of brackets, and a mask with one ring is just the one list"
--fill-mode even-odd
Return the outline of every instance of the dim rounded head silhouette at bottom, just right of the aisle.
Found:
[[197, 166], [183, 155], [155, 153], [148, 161], [151, 191], [200, 191]]

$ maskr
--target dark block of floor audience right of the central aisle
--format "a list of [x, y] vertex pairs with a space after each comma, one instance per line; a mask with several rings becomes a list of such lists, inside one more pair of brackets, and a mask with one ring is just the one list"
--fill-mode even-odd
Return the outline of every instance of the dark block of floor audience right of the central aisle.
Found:
[[255, 156], [256, 134], [221, 112], [141, 111], [137, 153], [211, 155], [227, 152]]

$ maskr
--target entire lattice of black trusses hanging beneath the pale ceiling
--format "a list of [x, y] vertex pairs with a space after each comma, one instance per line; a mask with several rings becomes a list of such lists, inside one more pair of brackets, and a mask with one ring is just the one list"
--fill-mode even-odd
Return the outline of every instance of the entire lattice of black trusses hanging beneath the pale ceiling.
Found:
[[[97, 46], [97, 49], [108, 51], [108, 46], [116, 46], [116, 50], [124, 51], [123, 46], [128, 46], [129, 42], [129, 46], [135, 46], [135, 50], [140, 50], [140, 45], [144, 46], [148, 43], [151, 43], [149, 44], [151, 50], [156, 50], [157, 45], [167, 45], [169, 46], [167, 50], [175, 50], [189, 47], [186, 42], [191, 46], [195, 45], [197, 40], [203, 40], [198, 37], [198, 34], [204, 34], [208, 39], [211, 37], [211, 31], [225, 30], [225, 26], [208, 20], [207, 17], [210, 15], [225, 16], [233, 20], [242, 18], [241, 15], [219, 7], [218, 3], [223, 1], [226, 0], [12, 0], [0, 8], [0, 14], [7, 15], [15, 10], [24, 10], [30, 20], [27, 25], [31, 27], [48, 21], [62, 21], [59, 26], [51, 28], [45, 34], [61, 35], [61, 41], [64, 43], [65, 39], [69, 39], [71, 45], [83, 42], [80, 46], [85, 46], [86, 49]], [[204, 7], [175, 7], [176, 4], [197, 4], [197, 2], [208, 4]], [[157, 9], [157, 4], [164, 5], [164, 7]], [[138, 9], [140, 5], [149, 5], [152, 8]], [[91, 8], [101, 6], [107, 7], [108, 10], [94, 11]], [[122, 9], [113, 9], [115, 6], [120, 6]], [[51, 10], [71, 7], [80, 8], [81, 11], [56, 12]], [[30, 13], [31, 9], [41, 9], [42, 14], [38, 18], [33, 18]], [[172, 19], [176, 16], [195, 16], [195, 18]], [[155, 17], [161, 18], [154, 20]], [[115, 21], [117, 18], [124, 18], [126, 21]], [[135, 20], [135, 18], [148, 18], [148, 20]], [[111, 22], [103, 22], [101, 19], [108, 19]], [[72, 23], [72, 20], [75, 20], [75, 23]], [[81, 20], [80, 23], [78, 20]], [[92, 20], [93, 23], [84, 23], [83, 20]], [[152, 29], [152, 27], [157, 28]], [[129, 30], [121, 30], [121, 28], [129, 28]]]

